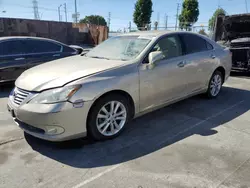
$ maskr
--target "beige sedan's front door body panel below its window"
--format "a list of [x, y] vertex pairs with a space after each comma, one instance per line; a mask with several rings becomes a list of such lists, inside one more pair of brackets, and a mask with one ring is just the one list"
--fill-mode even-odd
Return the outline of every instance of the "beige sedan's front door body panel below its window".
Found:
[[140, 108], [141, 111], [161, 105], [186, 95], [188, 74], [183, 57], [157, 62], [154, 67], [140, 66]]

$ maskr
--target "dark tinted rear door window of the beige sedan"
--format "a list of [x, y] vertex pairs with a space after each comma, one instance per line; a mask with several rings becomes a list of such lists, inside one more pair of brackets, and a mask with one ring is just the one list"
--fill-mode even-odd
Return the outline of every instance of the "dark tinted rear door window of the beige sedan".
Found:
[[207, 41], [196, 35], [181, 35], [186, 54], [208, 50]]

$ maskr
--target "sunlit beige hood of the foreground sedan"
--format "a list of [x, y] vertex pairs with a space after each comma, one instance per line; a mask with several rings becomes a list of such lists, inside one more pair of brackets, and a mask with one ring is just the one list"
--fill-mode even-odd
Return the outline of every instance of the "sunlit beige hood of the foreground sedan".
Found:
[[112, 69], [124, 61], [71, 56], [58, 59], [26, 70], [15, 82], [16, 87], [27, 91], [42, 91], [61, 87], [71, 81]]

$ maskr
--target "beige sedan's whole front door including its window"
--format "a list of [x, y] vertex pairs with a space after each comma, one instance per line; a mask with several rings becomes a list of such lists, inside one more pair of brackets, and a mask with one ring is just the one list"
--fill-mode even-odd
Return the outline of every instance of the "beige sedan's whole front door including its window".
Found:
[[155, 51], [163, 59], [139, 67], [141, 111], [186, 95], [185, 85], [189, 77], [178, 35], [161, 38], [152, 48], [152, 54]]

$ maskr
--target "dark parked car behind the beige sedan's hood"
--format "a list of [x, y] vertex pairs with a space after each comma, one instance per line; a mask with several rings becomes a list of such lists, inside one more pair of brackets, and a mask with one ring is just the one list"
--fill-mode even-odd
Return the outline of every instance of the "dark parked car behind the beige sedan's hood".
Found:
[[38, 37], [0, 37], [0, 83], [14, 81], [31, 67], [77, 54], [60, 42]]

